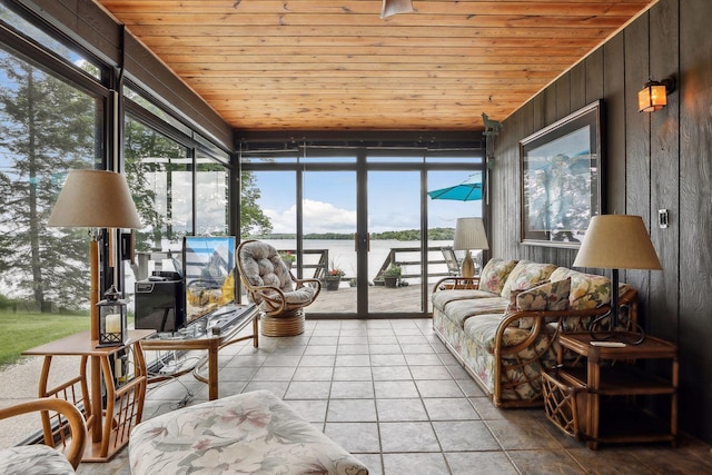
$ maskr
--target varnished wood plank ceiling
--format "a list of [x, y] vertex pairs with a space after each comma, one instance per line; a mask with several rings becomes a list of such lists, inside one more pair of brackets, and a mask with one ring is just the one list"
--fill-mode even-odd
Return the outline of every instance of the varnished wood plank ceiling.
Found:
[[482, 130], [656, 0], [96, 0], [239, 130]]

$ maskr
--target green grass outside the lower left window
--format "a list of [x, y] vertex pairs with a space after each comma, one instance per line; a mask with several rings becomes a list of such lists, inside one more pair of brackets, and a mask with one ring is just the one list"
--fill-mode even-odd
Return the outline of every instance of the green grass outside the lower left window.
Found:
[[0, 369], [26, 349], [88, 330], [89, 315], [13, 314], [0, 310]]

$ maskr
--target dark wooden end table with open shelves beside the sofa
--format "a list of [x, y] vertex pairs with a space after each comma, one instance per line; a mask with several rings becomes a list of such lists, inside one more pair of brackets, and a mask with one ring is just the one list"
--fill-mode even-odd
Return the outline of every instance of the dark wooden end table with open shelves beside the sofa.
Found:
[[[622, 340], [635, 340], [635, 335], [622, 334]], [[631, 443], [678, 441], [678, 347], [660, 338], [645, 337], [642, 344], [625, 346], [596, 346], [589, 333], [562, 334], [558, 338], [558, 363], [563, 349], [586, 358], [585, 368], [562, 368], [558, 378], [574, 387], [585, 387], [585, 436], [589, 448], [600, 443]], [[629, 364], [637, 359], [670, 359], [669, 380], [659, 378]], [[603, 404], [602, 398], [616, 396], [666, 395], [670, 397], [670, 422], [663, 422], [636, 407]], [[625, 399], [617, 397], [617, 399]]]

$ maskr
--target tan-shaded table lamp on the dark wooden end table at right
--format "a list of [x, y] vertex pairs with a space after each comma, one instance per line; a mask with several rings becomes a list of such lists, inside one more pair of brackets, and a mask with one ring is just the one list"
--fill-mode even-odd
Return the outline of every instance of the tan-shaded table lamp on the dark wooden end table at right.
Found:
[[[611, 269], [611, 321], [607, 334], [599, 339], [615, 339], [619, 325], [619, 269], [662, 270], [657, 254], [650, 240], [643, 218], [630, 215], [594, 216], [573, 264], [574, 267], [599, 267]], [[596, 318], [591, 328], [607, 317]], [[640, 339], [627, 342], [640, 344], [645, 339], [643, 328], [634, 324]], [[619, 335], [619, 339], [622, 335]]]

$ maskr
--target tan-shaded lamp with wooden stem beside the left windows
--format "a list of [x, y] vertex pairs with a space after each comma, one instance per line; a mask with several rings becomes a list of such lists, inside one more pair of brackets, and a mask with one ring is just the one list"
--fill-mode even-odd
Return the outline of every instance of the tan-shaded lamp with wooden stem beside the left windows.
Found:
[[140, 228], [141, 220], [123, 175], [103, 170], [71, 170], [62, 187], [49, 227], [90, 228], [91, 339], [99, 339], [99, 244], [97, 228]]

